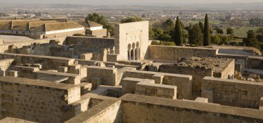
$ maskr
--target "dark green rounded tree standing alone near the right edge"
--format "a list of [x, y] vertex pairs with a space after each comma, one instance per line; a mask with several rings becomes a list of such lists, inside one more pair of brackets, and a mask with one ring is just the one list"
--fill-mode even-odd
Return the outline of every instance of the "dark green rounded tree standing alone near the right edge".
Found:
[[246, 44], [246, 46], [257, 47], [255, 46], [255, 44], [257, 44], [257, 38], [255, 36], [255, 32], [253, 30], [248, 30], [246, 34], [247, 34], [247, 37], [243, 39], [244, 44]]

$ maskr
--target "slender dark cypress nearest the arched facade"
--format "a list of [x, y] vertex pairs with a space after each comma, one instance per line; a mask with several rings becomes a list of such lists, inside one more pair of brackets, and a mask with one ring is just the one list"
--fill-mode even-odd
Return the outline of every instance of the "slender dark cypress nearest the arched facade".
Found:
[[181, 28], [181, 23], [179, 17], [176, 18], [175, 28], [174, 28], [174, 41], [176, 46], [183, 44], [183, 31]]

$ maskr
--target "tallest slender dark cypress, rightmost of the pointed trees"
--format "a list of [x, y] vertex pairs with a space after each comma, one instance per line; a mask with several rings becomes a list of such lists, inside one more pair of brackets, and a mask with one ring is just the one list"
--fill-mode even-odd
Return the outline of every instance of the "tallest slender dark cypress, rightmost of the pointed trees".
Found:
[[210, 28], [208, 22], [208, 14], [206, 14], [205, 25], [203, 28], [203, 46], [210, 46]]

